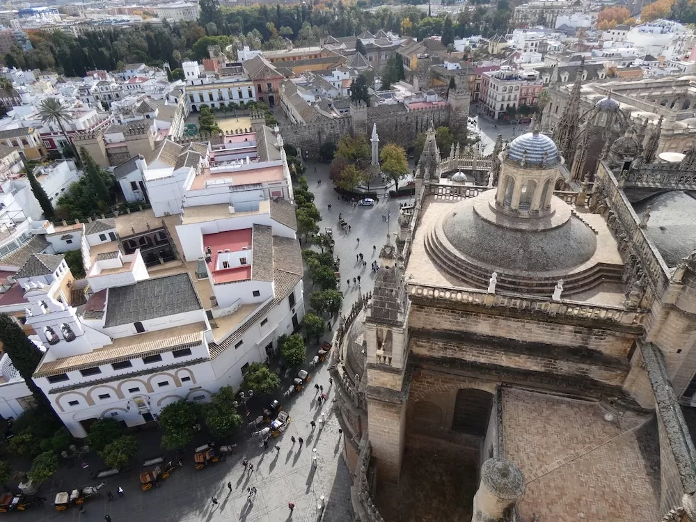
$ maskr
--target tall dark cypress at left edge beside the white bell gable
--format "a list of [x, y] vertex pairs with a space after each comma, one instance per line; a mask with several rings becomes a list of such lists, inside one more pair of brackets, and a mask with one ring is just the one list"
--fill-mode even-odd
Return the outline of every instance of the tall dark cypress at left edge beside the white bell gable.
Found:
[[26, 337], [22, 327], [7, 314], [0, 314], [0, 342], [2, 343], [3, 351], [10, 357], [12, 365], [19, 372], [19, 375], [22, 376], [29, 390], [31, 390], [34, 400], [39, 404], [48, 406], [49, 402], [46, 396], [31, 378], [43, 354]]

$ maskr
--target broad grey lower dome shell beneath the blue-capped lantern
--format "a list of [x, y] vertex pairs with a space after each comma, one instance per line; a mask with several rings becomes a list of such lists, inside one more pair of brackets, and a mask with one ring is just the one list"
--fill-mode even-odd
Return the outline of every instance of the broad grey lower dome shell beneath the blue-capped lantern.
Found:
[[557, 212], [561, 221], [557, 226], [544, 223], [539, 227], [512, 228], [500, 216], [488, 212], [487, 202], [477, 205], [477, 199], [457, 204], [444, 217], [442, 230], [459, 254], [489, 274], [497, 271], [525, 278], [534, 278], [535, 274], [562, 276], [594, 255], [594, 232], [574, 216], [566, 218]]

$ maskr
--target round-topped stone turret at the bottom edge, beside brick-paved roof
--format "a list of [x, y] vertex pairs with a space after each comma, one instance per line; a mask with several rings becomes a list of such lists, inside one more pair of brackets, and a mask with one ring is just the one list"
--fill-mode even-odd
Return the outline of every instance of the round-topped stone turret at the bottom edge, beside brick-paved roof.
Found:
[[474, 496], [471, 522], [508, 522], [524, 495], [524, 474], [507, 459], [488, 459], [481, 467], [481, 482]]

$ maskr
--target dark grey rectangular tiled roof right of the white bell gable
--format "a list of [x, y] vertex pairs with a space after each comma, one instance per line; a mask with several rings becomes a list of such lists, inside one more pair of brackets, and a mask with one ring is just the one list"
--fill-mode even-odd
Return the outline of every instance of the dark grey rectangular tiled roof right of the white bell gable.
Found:
[[188, 273], [138, 281], [109, 288], [104, 326], [118, 326], [157, 317], [201, 310]]

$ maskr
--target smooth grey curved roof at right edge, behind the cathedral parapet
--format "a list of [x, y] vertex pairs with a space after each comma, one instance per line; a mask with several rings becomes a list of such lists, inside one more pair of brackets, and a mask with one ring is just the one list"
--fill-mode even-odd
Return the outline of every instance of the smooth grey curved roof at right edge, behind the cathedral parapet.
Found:
[[650, 219], [645, 232], [657, 247], [668, 267], [676, 267], [696, 248], [696, 199], [683, 191], [670, 191], [633, 203], [640, 218], [650, 205]]

